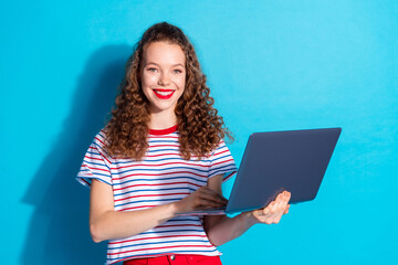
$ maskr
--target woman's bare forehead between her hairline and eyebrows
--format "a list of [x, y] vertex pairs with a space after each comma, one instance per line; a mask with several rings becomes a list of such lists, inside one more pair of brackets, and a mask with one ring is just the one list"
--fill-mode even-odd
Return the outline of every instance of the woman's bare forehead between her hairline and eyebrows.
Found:
[[185, 65], [186, 56], [178, 44], [167, 42], [153, 42], [144, 46], [144, 63], [156, 64], [182, 64]]

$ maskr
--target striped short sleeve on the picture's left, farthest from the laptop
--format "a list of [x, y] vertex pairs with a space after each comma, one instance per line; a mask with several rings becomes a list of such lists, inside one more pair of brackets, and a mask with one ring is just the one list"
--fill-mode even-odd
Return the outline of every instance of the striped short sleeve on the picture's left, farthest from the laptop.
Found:
[[76, 180], [85, 187], [90, 188], [93, 179], [112, 186], [112, 158], [103, 148], [105, 141], [105, 132], [102, 130], [95, 136], [84, 156]]

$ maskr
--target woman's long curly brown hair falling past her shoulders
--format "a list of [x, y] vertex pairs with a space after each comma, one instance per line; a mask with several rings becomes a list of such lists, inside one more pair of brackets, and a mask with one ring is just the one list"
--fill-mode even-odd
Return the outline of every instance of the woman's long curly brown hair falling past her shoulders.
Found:
[[178, 99], [175, 113], [178, 123], [180, 155], [189, 160], [208, 156], [227, 136], [233, 140], [224, 127], [222, 117], [213, 107], [213, 98], [206, 85], [192, 44], [184, 32], [167, 22], [151, 25], [136, 44], [126, 63], [126, 74], [119, 85], [116, 108], [105, 127], [106, 151], [111, 156], [130, 157], [140, 160], [148, 148], [149, 102], [140, 87], [139, 72], [144, 49], [153, 42], [178, 44], [186, 55], [186, 87]]

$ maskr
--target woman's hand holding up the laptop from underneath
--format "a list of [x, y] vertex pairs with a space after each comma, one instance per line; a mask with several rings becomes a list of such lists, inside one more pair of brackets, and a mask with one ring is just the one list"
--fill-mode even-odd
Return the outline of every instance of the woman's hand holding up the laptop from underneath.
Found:
[[276, 199], [272, 201], [266, 208], [251, 211], [250, 215], [253, 223], [279, 223], [282, 215], [289, 213], [290, 199], [291, 193], [289, 191], [283, 191], [277, 194]]

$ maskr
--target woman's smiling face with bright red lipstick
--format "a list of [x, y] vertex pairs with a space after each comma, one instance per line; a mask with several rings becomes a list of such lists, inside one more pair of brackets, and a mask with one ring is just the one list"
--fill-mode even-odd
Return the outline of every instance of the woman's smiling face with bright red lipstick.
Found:
[[151, 113], [174, 112], [186, 84], [186, 56], [177, 44], [153, 42], [144, 47], [142, 88]]

